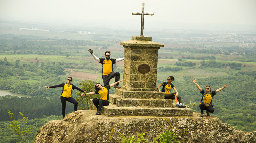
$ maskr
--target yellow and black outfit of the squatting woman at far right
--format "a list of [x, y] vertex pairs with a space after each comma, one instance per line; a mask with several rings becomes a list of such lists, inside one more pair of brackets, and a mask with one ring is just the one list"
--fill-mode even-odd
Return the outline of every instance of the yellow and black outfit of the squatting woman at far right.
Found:
[[205, 90], [202, 90], [200, 92], [202, 94], [202, 101], [199, 104], [201, 112], [204, 112], [204, 110], [208, 111], [209, 113], [214, 112], [214, 108], [209, 104], [211, 103], [213, 96], [216, 94], [216, 90], [211, 92], [212, 92], [212, 96], [211, 96], [211, 93], [207, 94]]

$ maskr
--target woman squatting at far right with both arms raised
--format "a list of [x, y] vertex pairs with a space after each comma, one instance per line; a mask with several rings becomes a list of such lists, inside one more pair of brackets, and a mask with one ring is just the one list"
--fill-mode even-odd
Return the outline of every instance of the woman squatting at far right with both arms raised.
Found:
[[215, 90], [215, 91], [211, 91], [211, 87], [210, 86], [206, 86], [205, 90], [202, 90], [202, 88], [196, 83], [196, 80], [193, 78], [192, 82], [194, 82], [194, 84], [196, 85], [196, 87], [200, 90], [201, 94], [202, 94], [202, 99], [201, 102], [199, 104], [199, 107], [201, 109], [201, 117], [204, 116], [204, 110], [206, 110], [206, 116], [210, 116], [210, 113], [214, 112], [214, 108], [212, 103], [212, 98], [213, 96], [221, 91], [222, 89], [226, 88], [228, 86], [228, 84], [225, 84], [223, 87]]

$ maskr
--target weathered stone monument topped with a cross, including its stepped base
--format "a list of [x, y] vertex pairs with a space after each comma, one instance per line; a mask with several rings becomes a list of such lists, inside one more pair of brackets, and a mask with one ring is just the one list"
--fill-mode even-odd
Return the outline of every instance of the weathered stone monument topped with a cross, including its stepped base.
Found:
[[[102, 107], [106, 116], [192, 116], [192, 109], [176, 108], [173, 100], [165, 100], [164, 93], [156, 89], [158, 49], [163, 44], [144, 37], [144, 3], [141, 15], [141, 35], [132, 36], [132, 40], [120, 42], [124, 47], [123, 86], [110, 94], [112, 104]], [[91, 102], [90, 109], [95, 109]]]

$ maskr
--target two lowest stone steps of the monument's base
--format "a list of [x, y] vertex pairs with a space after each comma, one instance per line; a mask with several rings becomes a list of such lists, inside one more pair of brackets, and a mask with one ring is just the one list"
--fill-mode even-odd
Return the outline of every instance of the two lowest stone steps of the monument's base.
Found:
[[[131, 101], [141, 102], [142, 100], [148, 101], [149, 103], [152, 102], [152, 106], [148, 107], [148, 104], [140, 104], [141, 106], [125, 106], [127, 102], [125, 100], [129, 99], [123, 99], [120, 96], [110, 94], [109, 96], [110, 102], [116, 103], [112, 104], [110, 103], [108, 106], [102, 106], [101, 114], [104, 114], [106, 116], [158, 116], [158, 117], [170, 117], [170, 116], [192, 116], [193, 110], [190, 108], [177, 108], [172, 103], [173, 100], [154, 100], [154, 99], [130, 99]], [[124, 106], [117, 106], [120, 102], [124, 100]], [[163, 102], [162, 104], [159, 104], [158, 102]], [[157, 102], [154, 104], [154, 102]], [[130, 104], [130, 103], [129, 103]], [[134, 104], [135, 105], [135, 104]], [[136, 105], [138, 105], [136, 103]], [[151, 104], [150, 104], [151, 105]], [[162, 107], [158, 107], [162, 106]], [[164, 107], [166, 106], [166, 107]], [[168, 106], [168, 107], [167, 107]], [[90, 107], [89, 110], [95, 110], [96, 108], [94, 104], [92, 103], [92, 100], [90, 100]]]

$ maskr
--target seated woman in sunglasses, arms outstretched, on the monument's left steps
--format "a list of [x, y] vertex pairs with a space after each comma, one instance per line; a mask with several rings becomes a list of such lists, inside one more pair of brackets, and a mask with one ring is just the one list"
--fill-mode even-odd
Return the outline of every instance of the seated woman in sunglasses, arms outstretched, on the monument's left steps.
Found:
[[97, 113], [95, 115], [100, 115], [102, 105], [103, 106], [109, 105], [109, 89], [121, 81], [123, 81], [123, 79], [120, 81], [117, 81], [111, 85], [107, 85], [107, 86], [101, 86], [100, 83], [97, 83], [95, 85], [95, 91], [81, 94], [82, 97], [84, 97], [86, 95], [100, 94], [100, 99], [98, 99], [98, 98], [92, 99], [93, 104], [97, 108]]

